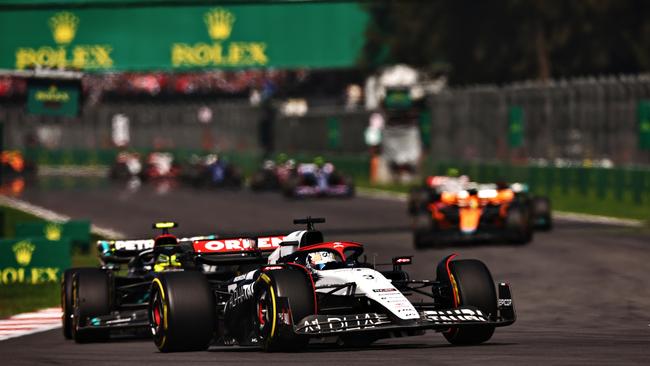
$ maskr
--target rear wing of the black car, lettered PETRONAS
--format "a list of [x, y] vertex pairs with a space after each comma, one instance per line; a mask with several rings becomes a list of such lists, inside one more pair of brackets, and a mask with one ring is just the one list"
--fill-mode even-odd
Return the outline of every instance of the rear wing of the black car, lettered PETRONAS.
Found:
[[[213, 240], [216, 235], [193, 236], [178, 238], [180, 243], [191, 243], [197, 240]], [[128, 240], [98, 240], [97, 252], [104, 262], [126, 263], [144, 251], [153, 249], [153, 239], [128, 239]]]

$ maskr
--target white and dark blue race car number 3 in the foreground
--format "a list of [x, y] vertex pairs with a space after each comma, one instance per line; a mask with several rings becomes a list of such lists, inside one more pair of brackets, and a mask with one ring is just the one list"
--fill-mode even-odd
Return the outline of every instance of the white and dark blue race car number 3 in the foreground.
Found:
[[[216, 276], [199, 271], [161, 273], [149, 296], [149, 321], [161, 352], [205, 350], [210, 345], [295, 351], [310, 341], [355, 347], [392, 336], [440, 332], [452, 344], [479, 344], [496, 327], [515, 322], [506, 283], [495, 283], [478, 260], [444, 258], [435, 279], [411, 279], [394, 258], [392, 268], [361, 261], [363, 246], [325, 241], [315, 230], [324, 219], [268, 242], [197, 240], [194, 256], [216, 266], [249, 264], [249, 271]], [[264, 244], [264, 246], [262, 246]], [[423, 297], [424, 301], [417, 299]]]

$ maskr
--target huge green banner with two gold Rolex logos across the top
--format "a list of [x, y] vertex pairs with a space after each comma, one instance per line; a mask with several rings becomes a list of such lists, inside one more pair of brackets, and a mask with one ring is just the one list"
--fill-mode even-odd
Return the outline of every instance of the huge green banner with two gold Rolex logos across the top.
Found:
[[348, 67], [366, 23], [354, 2], [9, 8], [0, 12], [0, 68]]

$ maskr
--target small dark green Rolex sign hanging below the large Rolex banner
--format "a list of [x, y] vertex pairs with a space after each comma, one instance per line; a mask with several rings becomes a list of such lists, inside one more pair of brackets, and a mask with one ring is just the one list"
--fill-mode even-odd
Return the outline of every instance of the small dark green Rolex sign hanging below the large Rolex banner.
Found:
[[45, 116], [74, 117], [79, 113], [81, 85], [76, 83], [33, 80], [27, 88], [27, 112]]

